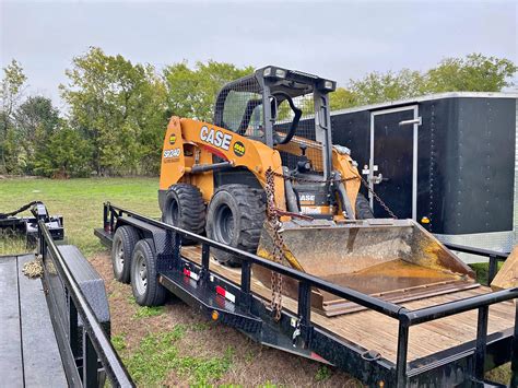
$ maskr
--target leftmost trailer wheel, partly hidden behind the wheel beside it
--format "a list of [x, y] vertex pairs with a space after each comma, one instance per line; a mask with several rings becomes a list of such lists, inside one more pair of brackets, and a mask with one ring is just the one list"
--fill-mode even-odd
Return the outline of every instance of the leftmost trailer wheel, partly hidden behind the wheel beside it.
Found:
[[139, 238], [139, 233], [133, 226], [122, 225], [115, 232], [111, 244], [111, 267], [114, 278], [121, 283], [130, 282], [131, 256]]

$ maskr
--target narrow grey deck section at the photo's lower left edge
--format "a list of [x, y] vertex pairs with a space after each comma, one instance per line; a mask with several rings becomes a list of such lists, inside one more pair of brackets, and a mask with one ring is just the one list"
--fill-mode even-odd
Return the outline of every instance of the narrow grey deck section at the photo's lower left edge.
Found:
[[0, 257], [0, 385], [23, 387], [16, 257]]

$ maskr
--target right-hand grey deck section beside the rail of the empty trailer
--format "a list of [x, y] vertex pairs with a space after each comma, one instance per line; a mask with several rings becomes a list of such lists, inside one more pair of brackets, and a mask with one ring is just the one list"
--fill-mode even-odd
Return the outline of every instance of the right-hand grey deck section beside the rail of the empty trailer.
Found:
[[61, 356], [43, 291], [42, 279], [22, 273], [33, 255], [19, 257], [20, 316], [26, 387], [66, 387]]

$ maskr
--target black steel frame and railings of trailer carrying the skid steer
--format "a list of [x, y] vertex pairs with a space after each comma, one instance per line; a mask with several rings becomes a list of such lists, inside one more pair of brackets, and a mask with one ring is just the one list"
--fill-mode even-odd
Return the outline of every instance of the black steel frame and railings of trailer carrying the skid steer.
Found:
[[[370, 386], [483, 386], [485, 371], [509, 361], [513, 371], [511, 386], [518, 386], [518, 303], [515, 303], [517, 307], [514, 328], [487, 336], [488, 307], [495, 303], [517, 299], [518, 287], [409, 310], [109, 202], [104, 204], [103, 219], [104, 227], [95, 230], [95, 235], [103, 244], [109, 247], [116, 228], [121, 225], [137, 227], [141, 237], [154, 240], [157, 277], [162, 285], [210, 319], [232, 326], [257, 342], [328, 362]], [[181, 256], [184, 238], [201, 245], [201, 266]], [[242, 259], [240, 284], [211, 271], [210, 250], [214, 248], [238, 255]], [[452, 248], [493, 257], [491, 260], [494, 262], [503, 257], [502, 254], [482, 249], [461, 246]], [[252, 264], [298, 281], [297, 314], [283, 309], [281, 319], [273, 320], [269, 306], [251, 292]], [[496, 268], [496, 264], [494, 267]], [[326, 328], [313, 325], [311, 287], [327, 291], [398, 320], [397, 362], [373, 355], [358, 344], [339, 339]], [[225, 298], [226, 293], [231, 293], [234, 298]], [[474, 341], [420, 360], [407, 361], [410, 327], [472, 309], [479, 311]]]

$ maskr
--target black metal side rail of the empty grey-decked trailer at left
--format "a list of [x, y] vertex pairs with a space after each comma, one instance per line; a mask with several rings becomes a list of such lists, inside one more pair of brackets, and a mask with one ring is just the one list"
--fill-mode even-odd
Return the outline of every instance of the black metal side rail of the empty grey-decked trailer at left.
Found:
[[[68, 340], [68, 343], [61, 343], [60, 345], [70, 355], [69, 357], [62, 357], [69, 386], [97, 387], [99, 384], [98, 362], [101, 362], [114, 387], [134, 387], [108, 336], [103, 330], [87, 298], [56, 246], [44, 220], [38, 221], [38, 234], [39, 254], [43, 256], [44, 262], [51, 261], [66, 292], [70, 296], [69, 328], [64, 330], [69, 334], [64, 333], [63, 336], [63, 333], [57, 332], [58, 340], [59, 338]], [[83, 328], [82, 336], [79, 318]], [[80, 354], [81, 348], [82, 354]], [[80, 368], [76, 365], [76, 361], [80, 358], [82, 358], [82, 375], [80, 375]]]

